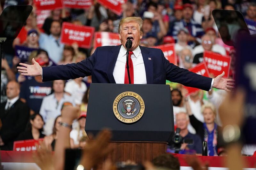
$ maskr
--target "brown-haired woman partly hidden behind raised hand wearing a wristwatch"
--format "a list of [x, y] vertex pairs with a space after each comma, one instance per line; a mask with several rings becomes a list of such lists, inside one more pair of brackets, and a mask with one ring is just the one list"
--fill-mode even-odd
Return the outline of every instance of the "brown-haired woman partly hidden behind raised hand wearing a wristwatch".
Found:
[[54, 151], [57, 135], [60, 128], [61, 116], [58, 116], [54, 120], [54, 127], [52, 129], [52, 135], [44, 137], [44, 143], [47, 145], [51, 144], [52, 151]]

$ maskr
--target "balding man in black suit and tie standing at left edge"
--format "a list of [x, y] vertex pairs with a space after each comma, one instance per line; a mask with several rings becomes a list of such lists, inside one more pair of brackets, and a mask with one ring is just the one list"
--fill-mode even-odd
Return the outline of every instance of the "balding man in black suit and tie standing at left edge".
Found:
[[7, 84], [7, 102], [1, 103], [0, 119], [2, 128], [0, 130], [1, 150], [12, 150], [13, 141], [23, 132], [29, 118], [29, 108], [19, 99], [20, 86], [16, 81]]

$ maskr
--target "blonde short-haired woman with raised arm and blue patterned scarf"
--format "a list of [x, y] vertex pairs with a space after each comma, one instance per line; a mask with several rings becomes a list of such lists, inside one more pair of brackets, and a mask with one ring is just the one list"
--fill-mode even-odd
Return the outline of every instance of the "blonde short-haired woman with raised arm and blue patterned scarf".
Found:
[[190, 123], [195, 128], [196, 134], [199, 135], [202, 141], [206, 141], [208, 145], [208, 156], [217, 156], [217, 150], [220, 147], [220, 134], [218, 134], [218, 125], [215, 123], [216, 109], [211, 103], [202, 106], [202, 114], [204, 123], [197, 120], [191, 112], [188, 102], [186, 102], [187, 113]]

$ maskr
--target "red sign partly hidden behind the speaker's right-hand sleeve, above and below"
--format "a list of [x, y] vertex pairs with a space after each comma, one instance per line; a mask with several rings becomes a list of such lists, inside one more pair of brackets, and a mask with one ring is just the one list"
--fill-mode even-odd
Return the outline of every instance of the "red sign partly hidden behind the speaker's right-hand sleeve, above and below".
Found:
[[[205, 77], [210, 77], [210, 74], [209, 74], [209, 71], [208, 71], [208, 68], [207, 68], [205, 62], [199, 63], [195, 67], [190, 68], [189, 71], [200, 74], [200, 75], [203, 75]], [[189, 96], [192, 93], [195, 93], [196, 91], [200, 90], [200, 89], [197, 89], [197, 88], [187, 87], [187, 86], [184, 86], [184, 88], [188, 90], [187, 96]]]

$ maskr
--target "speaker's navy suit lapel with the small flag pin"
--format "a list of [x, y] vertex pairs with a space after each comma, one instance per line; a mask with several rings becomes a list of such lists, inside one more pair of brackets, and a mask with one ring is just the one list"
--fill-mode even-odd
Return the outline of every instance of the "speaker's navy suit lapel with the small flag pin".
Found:
[[150, 56], [149, 51], [145, 47], [140, 46], [140, 51], [146, 70], [147, 84], [153, 84], [153, 57]]

